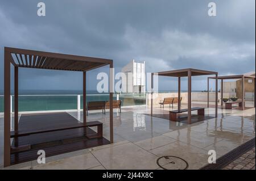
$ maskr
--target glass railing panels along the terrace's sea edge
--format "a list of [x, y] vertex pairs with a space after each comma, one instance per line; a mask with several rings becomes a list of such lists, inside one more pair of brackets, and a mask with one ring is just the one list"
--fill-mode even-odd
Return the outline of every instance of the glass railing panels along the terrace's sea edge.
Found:
[[[78, 95], [19, 95], [19, 111], [55, 111], [77, 110]], [[11, 99], [11, 98], [10, 98]], [[114, 100], [122, 100], [122, 106], [138, 106], [146, 104], [146, 94], [114, 94]], [[86, 102], [108, 101], [109, 94], [86, 95]], [[80, 108], [82, 109], [82, 95], [80, 95]], [[12, 110], [14, 98], [12, 96]], [[0, 95], [0, 112], [3, 112], [3, 96]]]

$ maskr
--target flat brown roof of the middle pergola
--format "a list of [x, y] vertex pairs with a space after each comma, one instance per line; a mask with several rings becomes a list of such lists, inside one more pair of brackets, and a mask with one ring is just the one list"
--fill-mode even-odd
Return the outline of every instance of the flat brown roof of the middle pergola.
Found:
[[187, 77], [188, 71], [191, 71], [192, 76], [217, 74], [216, 71], [190, 69], [190, 68], [189, 69], [170, 70], [170, 71], [160, 71], [160, 72], [153, 73], [153, 74], [168, 76], [168, 77]]

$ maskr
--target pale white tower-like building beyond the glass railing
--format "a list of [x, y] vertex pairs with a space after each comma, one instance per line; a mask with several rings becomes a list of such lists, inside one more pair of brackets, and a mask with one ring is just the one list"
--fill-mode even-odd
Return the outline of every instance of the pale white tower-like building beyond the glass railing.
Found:
[[122, 72], [126, 74], [126, 92], [145, 93], [146, 92], [146, 71], [145, 61], [143, 63], [132, 60], [129, 64], [122, 68]]

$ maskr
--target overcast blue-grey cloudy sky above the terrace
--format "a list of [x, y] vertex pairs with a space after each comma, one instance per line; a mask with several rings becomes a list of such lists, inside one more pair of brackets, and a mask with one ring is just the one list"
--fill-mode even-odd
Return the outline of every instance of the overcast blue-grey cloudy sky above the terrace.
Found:
[[[0, 2], [0, 91], [3, 47], [110, 58], [118, 72], [129, 61], [146, 61], [146, 71], [196, 68], [220, 75], [255, 71], [255, 0], [213, 1], [40, 1]], [[88, 89], [96, 75], [88, 73]], [[82, 73], [20, 69], [19, 89], [82, 90]], [[193, 90], [206, 89], [207, 78], [193, 78]], [[181, 83], [186, 89], [187, 82]], [[174, 78], [161, 78], [160, 90], [176, 90]]]

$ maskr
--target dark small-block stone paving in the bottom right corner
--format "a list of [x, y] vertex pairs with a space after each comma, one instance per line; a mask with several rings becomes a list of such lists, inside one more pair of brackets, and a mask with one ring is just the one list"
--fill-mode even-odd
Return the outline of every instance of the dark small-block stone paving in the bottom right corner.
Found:
[[223, 170], [255, 170], [255, 147], [230, 163]]

